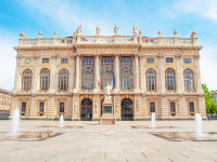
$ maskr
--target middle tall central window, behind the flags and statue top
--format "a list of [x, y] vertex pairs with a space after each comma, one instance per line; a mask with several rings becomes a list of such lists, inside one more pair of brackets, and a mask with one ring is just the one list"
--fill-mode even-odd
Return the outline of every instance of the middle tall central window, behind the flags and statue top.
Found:
[[102, 57], [101, 59], [101, 89], [104, 89], [107, 84], [114, 87], [114, 67], [112, 57]]

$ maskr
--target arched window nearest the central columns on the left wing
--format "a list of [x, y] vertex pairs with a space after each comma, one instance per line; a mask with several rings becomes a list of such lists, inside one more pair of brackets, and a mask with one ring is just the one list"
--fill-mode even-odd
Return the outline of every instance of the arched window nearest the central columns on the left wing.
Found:
[[68, 70], [62, 69], [59, 73], [59, 90], [67, 91], [68, 90]]

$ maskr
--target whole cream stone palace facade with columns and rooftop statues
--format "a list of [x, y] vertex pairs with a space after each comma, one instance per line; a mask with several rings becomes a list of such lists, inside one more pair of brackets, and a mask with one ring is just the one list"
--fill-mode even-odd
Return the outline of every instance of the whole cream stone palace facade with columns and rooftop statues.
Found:
[[[206, 116], [195, 31], [191, 38], [81, 36], [26, 39], [14, 49], [16, 75], [12, 111], [23, 119], [99, 120], [105, 86], [116, 120], [193, 119]], [[11, 117], [10, 116], [10, 117]]]

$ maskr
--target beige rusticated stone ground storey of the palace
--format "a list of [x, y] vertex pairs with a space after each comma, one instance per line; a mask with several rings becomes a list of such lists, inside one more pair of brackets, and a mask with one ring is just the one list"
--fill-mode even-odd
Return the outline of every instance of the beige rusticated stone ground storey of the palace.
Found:
[[[135, 121], [150, 120], [151, 111], [155, 112], [156, 120], [194, 120], [194, 113], [201, 113], [206, 120], [203, 95], [112, 94], [111, 96], [112, 112], [116, 121], [122, 121], [126, 116]], [[84, 105], [85, 99], [89, 100], [87, 102], [89, 105], [87, 103]], [[21, 116], [25, 120], [59, 120], [60, 114], [63, 114], [65, 120], [81, 121], [84, 117], [87, 117], [87, 120], [99, 121], [102, 116], [103, 99], [104, 94], [13, 95], [9, 119], [12, 118], [14, 108], [20, 106], [21, 111], [25, 110]], [[175, 112], [171, 112], [171, 102], [175, 103]], [[22, 108], [22, 103], [26, 103], [25, 109]], [[44, 105], [43, 112], [39, 112], [40, 103]], [[61, 103], [64, 105], [62, 110], [60, 110]], [[190, 111], [190, 103], [194, 111]]]

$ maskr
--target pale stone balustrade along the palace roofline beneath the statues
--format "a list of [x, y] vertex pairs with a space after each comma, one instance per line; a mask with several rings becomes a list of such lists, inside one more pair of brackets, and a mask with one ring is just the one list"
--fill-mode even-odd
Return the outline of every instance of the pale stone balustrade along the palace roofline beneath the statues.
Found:
[[20, 46], [48, 46], [73, 44], [108, 44], [108, 43], [138, 43], [142, 45], [189, 45], [195, 44], [196, 38], [157, 37], [144, 38], [137, 36], [77, 36], [72, 38], [37, 38], [20, 39]]

